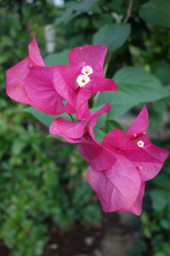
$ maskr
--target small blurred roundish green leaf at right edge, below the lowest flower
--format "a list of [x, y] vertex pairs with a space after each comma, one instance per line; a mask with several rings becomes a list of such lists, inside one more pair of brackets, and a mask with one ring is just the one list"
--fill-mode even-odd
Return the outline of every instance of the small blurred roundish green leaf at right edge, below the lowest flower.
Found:
[[167, 194], [162, 190], [154, 189], [150, 191], [152, 207], [155, 211], [163, 211], [168, 205]]

